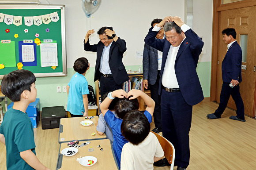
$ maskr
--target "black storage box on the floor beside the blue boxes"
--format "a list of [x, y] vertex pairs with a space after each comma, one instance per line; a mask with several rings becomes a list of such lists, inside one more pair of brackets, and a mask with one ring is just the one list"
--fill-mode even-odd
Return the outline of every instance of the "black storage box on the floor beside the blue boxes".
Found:
[[60, 127], [60, 119], [66, 117], [64, 106], [42, 108], [42, 129]]

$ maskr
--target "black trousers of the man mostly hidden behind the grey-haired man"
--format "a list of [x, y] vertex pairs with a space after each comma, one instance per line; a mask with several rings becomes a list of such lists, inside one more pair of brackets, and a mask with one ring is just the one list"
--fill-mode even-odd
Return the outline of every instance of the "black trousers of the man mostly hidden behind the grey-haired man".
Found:
[[161, 120], [161, 96], [158, 95], [159, 88], [159, 78], [160, 78], [160, 70], [158, 71], [157, 79], [154, 85], [148, 84], [150, 87], [151, 98], [154, 100], [154, 126], [157, 128], [162, 128], [162, 120]]

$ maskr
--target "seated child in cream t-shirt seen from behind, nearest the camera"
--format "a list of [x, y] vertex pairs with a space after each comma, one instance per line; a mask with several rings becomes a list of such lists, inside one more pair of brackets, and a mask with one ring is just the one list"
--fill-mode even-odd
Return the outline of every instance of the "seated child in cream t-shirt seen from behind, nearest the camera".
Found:
[[121, 124], [121, 132], [129, 141], [122, 149], [121, 170], [153, 170], [153, 163], [164, 158], [163, 149], [150, 132], [150, 123], [143, 113], [138, 110], [128, 112]]

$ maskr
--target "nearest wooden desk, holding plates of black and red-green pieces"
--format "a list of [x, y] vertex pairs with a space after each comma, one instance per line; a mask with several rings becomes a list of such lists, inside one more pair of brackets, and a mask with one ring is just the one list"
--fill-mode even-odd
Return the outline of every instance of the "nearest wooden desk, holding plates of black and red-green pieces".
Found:
[[[86, 141], [79, 141], [78, 145], [81, 145], [84, 142]], [[119, 170], [116, 156], [109, 139], [92, 140], [90, 142], [90, 144], [78, 148], [78, 152], [74, 156], [70, 157], [63, 156], [61, 154], [61, 151], [64, 148], [68, 148], [68, 142], [61, 143], [56, 170]], [[103, 151], [97, 147], [98, 145], [101, 145]], [[93, 148], [94, 151], [89, 152], [89, 148]], [[94, 156], [97, 158], [97, 163], [95, 163], [93, 166], [82, 166], [76, 160], [77, 158], [80, 158], [80, 156]]]

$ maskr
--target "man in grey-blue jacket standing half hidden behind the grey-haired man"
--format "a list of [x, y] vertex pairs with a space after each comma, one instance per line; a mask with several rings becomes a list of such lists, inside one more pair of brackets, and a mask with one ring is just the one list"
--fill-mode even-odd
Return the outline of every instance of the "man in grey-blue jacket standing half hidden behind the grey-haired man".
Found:
[[[154, 27], [154, 25], [159, 24], [161, 21], [162, 19], [154, 19], [151, 22], [151, 27]], [[162, 27], [156, 35], [156, 38], [164, 39], [164, 37], [164, 29]], [[157, 134], [162, 132], [161, 97], [158, 94], [161, 65], [162, 51], [158, 51], [145, 43], [143, 51], [143, 87], [145, 89], [147, 89], [148, 86], [150, 87], [151, 98], [155, 102], [153, 113], [155, 128], [152, 131]]]

